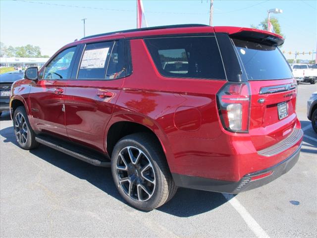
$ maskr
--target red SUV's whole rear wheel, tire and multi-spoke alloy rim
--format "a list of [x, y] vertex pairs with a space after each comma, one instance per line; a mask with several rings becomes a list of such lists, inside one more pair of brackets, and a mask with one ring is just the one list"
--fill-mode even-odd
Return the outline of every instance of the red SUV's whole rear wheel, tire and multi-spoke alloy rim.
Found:
[[120, 195], [144, 211], [163, 205], [177, 190], [158, 143], [149, 133], [127, 135], [117, 142], [111, 156], [112, 177]]

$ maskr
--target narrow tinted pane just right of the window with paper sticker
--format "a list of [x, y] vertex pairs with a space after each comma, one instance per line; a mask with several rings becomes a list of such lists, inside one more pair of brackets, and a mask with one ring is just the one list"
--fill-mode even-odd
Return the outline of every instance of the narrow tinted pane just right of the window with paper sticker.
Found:
[[111, 52], [111, 56], [108, 62], [106, 79], [115, 79], [125, 76], [124, 65], [124, 42], [115, 41]]

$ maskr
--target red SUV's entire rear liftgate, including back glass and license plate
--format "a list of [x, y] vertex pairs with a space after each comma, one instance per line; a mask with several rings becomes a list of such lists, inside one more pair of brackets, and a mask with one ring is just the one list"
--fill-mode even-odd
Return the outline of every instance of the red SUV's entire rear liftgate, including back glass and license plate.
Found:
[[251, 89], [251, 139], [261, 150], [292, 132], [297, 87], [287, 61], [272, 42], [243, 37], [232, 41]]

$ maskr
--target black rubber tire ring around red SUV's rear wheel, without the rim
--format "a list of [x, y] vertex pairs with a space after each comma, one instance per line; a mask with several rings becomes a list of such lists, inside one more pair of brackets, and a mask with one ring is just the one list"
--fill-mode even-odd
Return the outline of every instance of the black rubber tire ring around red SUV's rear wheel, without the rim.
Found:
[[[116, 175], [116, 163], [117, 163], [118, 155], [119, 155], [120, 151], [127, 146], [133, 146], [133, 147], [136, 147], [136, 148], [142, 150], [145, 153], [145, 155], [148, 157], [150, 162], [152, 163], [154, 173], [155, 173], [156, 185], [155, 185], [154, 194], [147, 201], [139, 202], [139, 201], [136, 201], [136, 200], [130, 198], [124, 192], [123, 188], [121, 187], [121, 185], [119, 183], [119, 179]], [[162, 176], [162, 172], [161, 172], [159, 165], [155, 159], [156, 156], [158, 156], [157, 153], [155, 151], [153, 151], [151, 148], [146, 148], [145, 146], [143, 146], [140, 142], [136, 141], [135, 139], [128, 139], [128, 138], [121, 139], [115, 145], [113, 152], [112, 152], [111, 172], [112, 172], [114, 184], [115, 184], [116, 188], [118, 189], [120, 195], [124, 198], [125, 201], [127, 201], [132, 206], [134, 206], [138, 209], [141, 209], [141, 210], [147, 210], [147, 211], [153, 210], [154, 208], [156, 208], [157, 204], [159, 204], [159, 201], [161, 199], [162, 185], [163, 185], [162, 181], [164, 180], [164, 177]]]

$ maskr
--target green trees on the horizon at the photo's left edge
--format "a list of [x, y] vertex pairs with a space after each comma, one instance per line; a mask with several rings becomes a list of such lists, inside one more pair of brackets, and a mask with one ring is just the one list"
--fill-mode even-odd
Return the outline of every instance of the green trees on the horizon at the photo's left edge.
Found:
[[1, 57], [49, 58], [49, 56], [41, 55], [41, 49], [38, 46], [26, 45], [18, 47], [6, 47], [2, 42], [0, 55]]

